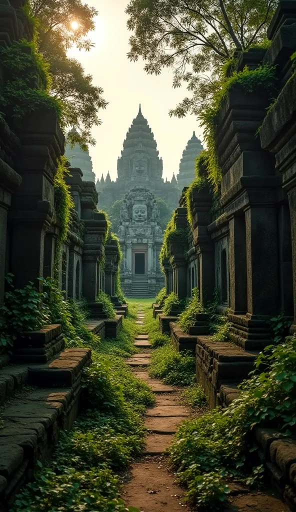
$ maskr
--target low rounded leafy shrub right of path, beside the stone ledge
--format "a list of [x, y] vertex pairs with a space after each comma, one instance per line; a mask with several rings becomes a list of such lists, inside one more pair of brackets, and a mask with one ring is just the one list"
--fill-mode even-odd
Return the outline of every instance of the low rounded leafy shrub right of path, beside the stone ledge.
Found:
[[153, 352], [149, 374], [162, 378], [165, 384], [190, 386], [195, 381], [195, 358], [167, 343]]

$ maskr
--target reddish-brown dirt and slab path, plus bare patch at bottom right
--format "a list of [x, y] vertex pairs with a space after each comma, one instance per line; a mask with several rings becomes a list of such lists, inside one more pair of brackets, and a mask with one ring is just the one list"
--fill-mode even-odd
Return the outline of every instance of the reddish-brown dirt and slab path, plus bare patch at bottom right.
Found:
[[[138, 311], [137, 325], [144, 325], [144, 313]], [[147, 334], [139, 334], [135, 346], [140, 352], [126, 362], [135, 374], [147, 382], [156, 395], [155, 406], [147, 409], [145, 424], [149, 430], [146, 449], [141, 459], [132, 465], [131, 478], [123, 486], [122, 497], [126, 505], [140, 512], [179, 512], [189, 507], [182, 500], [184, 491], [174, 474], [167, 468], [164, 451], [173, 440], [178, 425], [190, 411], [180, 402], [178, 391], [165, 386], [161, 380], [148, 374], [151, 344]], [[288, 512], [288, 508], [272, 493], [251, 493], [234, 486], [230, 505], [225, 512]]]

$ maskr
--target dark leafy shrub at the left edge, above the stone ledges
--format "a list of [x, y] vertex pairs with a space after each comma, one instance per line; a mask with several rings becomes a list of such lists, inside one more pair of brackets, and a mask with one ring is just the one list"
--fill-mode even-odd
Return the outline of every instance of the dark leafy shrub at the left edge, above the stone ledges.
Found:
[[12, 278], [12, 274], [6, 276], [9, 290], [0, 308], [0, 347], [11, 346], [20, 333], [41, 329], [50, 322], [48, 312], [42, 308], [44, 293], [38, 292], [32, 282], [15, 289]]

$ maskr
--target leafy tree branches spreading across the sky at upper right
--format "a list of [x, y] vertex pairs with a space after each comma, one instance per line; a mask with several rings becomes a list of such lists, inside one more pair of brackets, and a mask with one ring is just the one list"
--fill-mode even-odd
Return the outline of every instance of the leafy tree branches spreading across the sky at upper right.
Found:
[[198, 115], [234, 52], [266, 44], [277, 0], [131, 0], [126, 13], [130, 60], [142, 57], [148, 74], [174, 70], [173, 87], [191, 93], [170, 112]]

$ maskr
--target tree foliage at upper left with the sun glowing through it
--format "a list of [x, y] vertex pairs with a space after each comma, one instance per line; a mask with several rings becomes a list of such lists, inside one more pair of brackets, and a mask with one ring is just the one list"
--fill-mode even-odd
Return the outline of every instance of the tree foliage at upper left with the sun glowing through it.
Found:
[[[101, 123], [98, 110], [105, 109], [103, 90], [94, 86], [92, 76], [84, 73], [77, 59], [68, 58], [67, 50], [75, 46], [90, 51], [94, 46], [87, 34], [94, 30], [96, 9], [81, 0], [29, 0], [36, 19], [38, 50], [50, 63], [50, 93], [63, 107], [64, 130], [74, 126], [77, 133], [70, 142], [86, 150], [94, 144], [91, 129]], [[75, 29], [73, 28], [75, 23]]]

